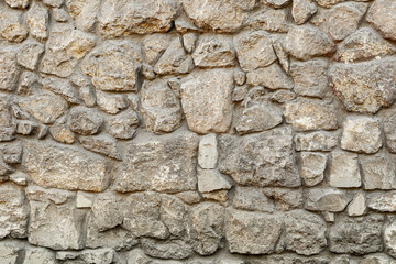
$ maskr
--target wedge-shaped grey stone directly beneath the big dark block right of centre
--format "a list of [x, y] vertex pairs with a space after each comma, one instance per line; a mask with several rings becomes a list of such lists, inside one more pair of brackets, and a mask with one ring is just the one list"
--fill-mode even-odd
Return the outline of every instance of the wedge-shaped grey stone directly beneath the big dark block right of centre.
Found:
[[255, 187], [237, 186], [232, 206], [248, 211], [274, 211], [274, 202], [264, 194], [263, 189]]

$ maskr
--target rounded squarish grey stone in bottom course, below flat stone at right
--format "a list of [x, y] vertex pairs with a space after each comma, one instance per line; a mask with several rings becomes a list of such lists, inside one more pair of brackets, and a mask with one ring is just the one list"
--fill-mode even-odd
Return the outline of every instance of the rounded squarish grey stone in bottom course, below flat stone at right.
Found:
[[318, 254], [327, 245], [326, 223], [315, 213], [293, 210], [285, 213], [286, 249], [302, 255]]

